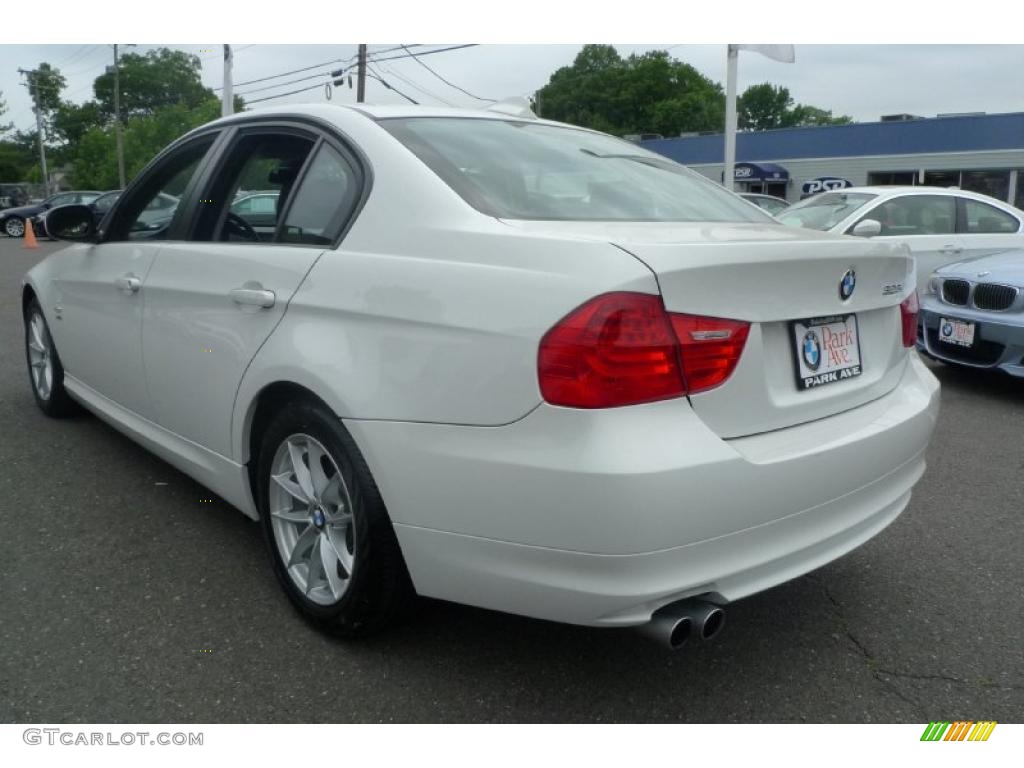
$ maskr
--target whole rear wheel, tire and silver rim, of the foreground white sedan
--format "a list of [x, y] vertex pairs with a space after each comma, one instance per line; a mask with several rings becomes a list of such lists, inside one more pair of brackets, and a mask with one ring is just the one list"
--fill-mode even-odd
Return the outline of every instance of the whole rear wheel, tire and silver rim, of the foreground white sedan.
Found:
[[262, 435], [257, 505], [278, 581], [318, 629], [358, 637], [397, 623], [412, 583], [377, 483], [341, 421], [287, 404]]

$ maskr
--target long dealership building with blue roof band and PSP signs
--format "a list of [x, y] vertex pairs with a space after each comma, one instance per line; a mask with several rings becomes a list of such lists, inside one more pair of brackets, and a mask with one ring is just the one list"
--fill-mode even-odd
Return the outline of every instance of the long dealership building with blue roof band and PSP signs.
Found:
[[[722, 180], [722, 134], [641, 143]], [[1024, 113], [892, 115], [878, 123], [739, 133], [735, 182], [736, 191], [791, 203], [863, 184], [958, 186], [1024, 208]]]

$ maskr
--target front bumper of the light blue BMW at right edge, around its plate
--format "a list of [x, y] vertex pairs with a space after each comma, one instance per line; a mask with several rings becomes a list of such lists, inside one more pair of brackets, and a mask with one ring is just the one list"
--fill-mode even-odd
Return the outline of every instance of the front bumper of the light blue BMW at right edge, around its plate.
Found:
[[[975, 324], [975, 342], [970, 349], [939, 341], [943, 317]], [[946, 362], [1024, 377], [1024, 321], [1020, 314], [999, 315], [969, 307], [946, 306], [929, 297], [922, 302], [918, 348]]]

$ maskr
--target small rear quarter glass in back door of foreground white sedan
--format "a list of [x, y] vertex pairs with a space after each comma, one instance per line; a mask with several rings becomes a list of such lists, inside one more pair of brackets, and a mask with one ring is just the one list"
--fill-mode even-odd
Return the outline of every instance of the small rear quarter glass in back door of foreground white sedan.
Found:
[[354, 208], [357, 196], [358, 180], [352, 167], [333, 146], [321, 144], [289, 205], [281, 241], [332, 244]]

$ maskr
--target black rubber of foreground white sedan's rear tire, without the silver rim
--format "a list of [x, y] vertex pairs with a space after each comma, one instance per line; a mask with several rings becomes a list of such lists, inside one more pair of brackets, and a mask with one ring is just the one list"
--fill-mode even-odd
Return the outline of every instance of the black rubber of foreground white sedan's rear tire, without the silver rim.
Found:
[[[270, 471], [273, 457], [292, 435], [316, 439], [337, 464], [351, 498], [357, 556], [348, 586], [330, 605], [313, 602], [289, 575], [270, 516]], [[370, 469], [341, 421], [323, 403], [293, 401], [267, 425], [256, 470], [256, 501], [273, 571], [292, 604], [317, 629], [341, 637], [360, 637], [396, 624], [414, 595], [398, 541]]]

